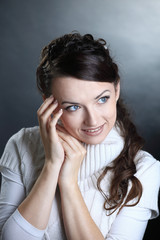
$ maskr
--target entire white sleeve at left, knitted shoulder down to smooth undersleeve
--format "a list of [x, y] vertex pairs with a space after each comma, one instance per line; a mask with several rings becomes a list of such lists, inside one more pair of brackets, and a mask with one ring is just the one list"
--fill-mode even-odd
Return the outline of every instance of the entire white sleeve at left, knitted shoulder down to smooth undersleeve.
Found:
[[22, 129], [13, 135], [6, 144], [4, 153], [0, 159], [0, 172], [2, 174], [0, 237], [3, 240], [13, 239], [13, 235], [17, 240], [40, 240], [44, 235], [44, 231], [30, 225], [17, 210], [20, 203], [26, 197], [26, 186], [22, 173], [22, 170], [24, 172], [24, 162], [22, 158], [29, 149], [27, 146], [32, 145], [28, 137], [29, 134], [30, 131], [26, 132], [25, 129]]

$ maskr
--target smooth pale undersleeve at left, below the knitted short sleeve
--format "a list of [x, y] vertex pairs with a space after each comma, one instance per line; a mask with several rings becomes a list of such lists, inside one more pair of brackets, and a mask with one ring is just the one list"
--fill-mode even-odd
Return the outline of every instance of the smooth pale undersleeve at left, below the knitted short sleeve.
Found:
[[[36, 229], [28, 223], [17, 210], [25, 198], [25, 189], [20, 176], [8, 169], [2, 170], [0, 194], [0, 236], [3, 240], [41, 240], [44, 231]], [[15, 194], [16, 193], [16, 194]]]

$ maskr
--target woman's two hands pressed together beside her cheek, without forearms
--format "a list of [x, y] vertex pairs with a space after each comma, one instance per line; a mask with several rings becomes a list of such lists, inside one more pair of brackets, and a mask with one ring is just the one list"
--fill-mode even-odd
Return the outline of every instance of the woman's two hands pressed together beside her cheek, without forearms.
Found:
[[60, 166], [59, 185], [73, 184], [77, 183], [78, 171], [86, 150], [77, 139], [57, 124], [62, 115], [62, 110], [57, 111], [57, 108], [58, 103], [51, 96], [37, 112], [45, 158], [46, 162]]

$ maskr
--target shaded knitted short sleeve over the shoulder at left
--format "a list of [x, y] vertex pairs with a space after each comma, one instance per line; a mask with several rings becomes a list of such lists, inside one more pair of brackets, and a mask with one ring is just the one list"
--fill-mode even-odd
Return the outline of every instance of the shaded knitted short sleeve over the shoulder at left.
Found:
[[33, 159], [34, 155], [39, 156], [39, 153], [42, 152], [39, 127], [23, 128], [7, 142], [1, 157], [0, 167], [6, 167], [19, 173], [19, 168], [27, 165], [27, 162], [31, 162], [29, 159]]

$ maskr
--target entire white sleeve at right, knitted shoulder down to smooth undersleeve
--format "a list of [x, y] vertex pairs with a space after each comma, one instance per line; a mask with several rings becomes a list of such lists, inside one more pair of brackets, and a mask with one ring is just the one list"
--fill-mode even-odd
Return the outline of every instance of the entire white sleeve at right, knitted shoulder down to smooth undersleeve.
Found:
[[[159, 215], [160, 162], [146, 152], [141, 152], [138, 159], [135, 176], [142, 184], [141, 199], [136, 206], [122, 208], [111, 226], [107, 240], [143, 239], [148, 220]], [[128, 205], [135, 201], [131, 200]]]

